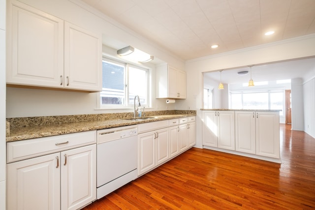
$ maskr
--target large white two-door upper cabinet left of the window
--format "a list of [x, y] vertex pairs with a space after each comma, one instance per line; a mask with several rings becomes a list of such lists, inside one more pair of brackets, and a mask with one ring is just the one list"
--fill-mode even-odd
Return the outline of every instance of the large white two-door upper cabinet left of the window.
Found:
[[8, 85], [101, 91], [101, 36], [13, 1]]

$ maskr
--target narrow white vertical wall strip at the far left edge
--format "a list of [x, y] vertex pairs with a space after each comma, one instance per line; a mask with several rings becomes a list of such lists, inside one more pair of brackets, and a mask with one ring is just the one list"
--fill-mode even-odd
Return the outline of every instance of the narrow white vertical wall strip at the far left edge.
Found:
[[0, 210], [5, 210], [5, 0], [0, 0]]

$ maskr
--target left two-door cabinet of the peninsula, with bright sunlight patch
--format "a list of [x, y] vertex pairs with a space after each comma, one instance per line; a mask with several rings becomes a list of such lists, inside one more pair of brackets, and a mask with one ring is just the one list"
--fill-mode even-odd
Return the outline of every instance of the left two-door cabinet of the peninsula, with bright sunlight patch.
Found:
[[203, 145], [235, 150], [234, 111], [203, 111]]

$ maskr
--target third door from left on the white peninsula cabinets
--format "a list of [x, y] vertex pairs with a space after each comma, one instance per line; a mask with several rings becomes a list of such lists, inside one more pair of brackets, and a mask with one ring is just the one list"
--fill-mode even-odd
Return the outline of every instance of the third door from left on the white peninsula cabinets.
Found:
[[255, 112], [235, 112], [235, 150], [256, 153]]

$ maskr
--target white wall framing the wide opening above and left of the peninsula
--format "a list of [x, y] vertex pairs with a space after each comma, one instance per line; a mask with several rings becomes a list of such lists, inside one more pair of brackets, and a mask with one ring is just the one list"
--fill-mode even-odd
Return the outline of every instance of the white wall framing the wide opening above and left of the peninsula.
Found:
[[187, 78], [195, 78], [198, 79], [198, 81], [187, 81], [187, 87], [189, 87], [187, 97], [194, 97], [195, 100], [193, 101], [194, 104], [189, 104], [190, 101], [183, 102], [182, 107], [191, 106], [197, 110], [196, 147], [202, 147], [202, 112], [200, 111], [200, 108], [202, 108], [202, 72], [310, 56], [315, 56], [315, 34], [195, 60], [188, 60], [186, 62]]

